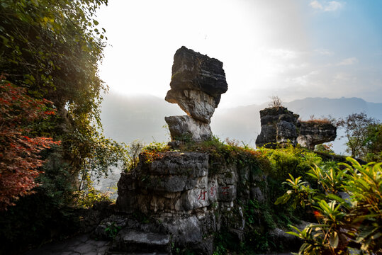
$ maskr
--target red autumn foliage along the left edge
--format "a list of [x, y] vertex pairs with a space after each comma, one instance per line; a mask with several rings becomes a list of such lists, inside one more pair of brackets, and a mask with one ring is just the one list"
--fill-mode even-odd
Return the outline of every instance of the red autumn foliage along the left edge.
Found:
[[0, 210], [6, 210], [21, 196], [33, 193], [44, 164], [40, 152], [60, 142], [27, 136], [33, 122], [55, 114], [47, 108], [52, 102], [31, 98], [26, 89], [0, 79]]

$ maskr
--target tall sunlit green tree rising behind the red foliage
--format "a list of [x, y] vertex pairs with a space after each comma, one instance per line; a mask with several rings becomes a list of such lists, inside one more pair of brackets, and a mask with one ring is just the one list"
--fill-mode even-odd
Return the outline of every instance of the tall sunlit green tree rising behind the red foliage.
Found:
[[57, 118], [35, 132], [62, 140], [72, 179], [81, 171], [106, 173], [125, 160], [123, 147], [103, 137], [98, 75], [106, 39], [96, 9], [107, 0], [4, 0], [0, 4], [0, 69], [34, 98], [47, 98]]

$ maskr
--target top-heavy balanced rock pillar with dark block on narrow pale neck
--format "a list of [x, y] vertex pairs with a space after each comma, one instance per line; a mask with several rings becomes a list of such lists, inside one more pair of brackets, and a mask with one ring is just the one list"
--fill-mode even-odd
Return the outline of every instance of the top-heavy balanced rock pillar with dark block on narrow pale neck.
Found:
[[187, 113], [165, 118], [172, 140], [208, 140], [210, 118], [228, 89], [223, 63], [183, 46], [174, 55], [170, 86], [165, 100]]

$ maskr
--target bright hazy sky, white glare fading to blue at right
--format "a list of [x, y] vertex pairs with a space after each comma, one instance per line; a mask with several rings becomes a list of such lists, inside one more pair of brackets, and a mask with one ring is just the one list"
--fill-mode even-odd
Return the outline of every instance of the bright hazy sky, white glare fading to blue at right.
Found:
[[382, 1], [109, 0], [101, 78], [164, 98], [182, 45], [223, 62], [220, 107], [305, 97], [382, 102]]

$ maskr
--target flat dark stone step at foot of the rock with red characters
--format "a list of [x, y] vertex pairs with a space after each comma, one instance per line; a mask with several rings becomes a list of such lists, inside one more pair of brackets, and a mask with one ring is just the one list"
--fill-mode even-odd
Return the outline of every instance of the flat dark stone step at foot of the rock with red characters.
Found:
[[118, 232], [108, 254], [169, 254], [168, 234], [143, 232], [135, 229], [122, 229]]

